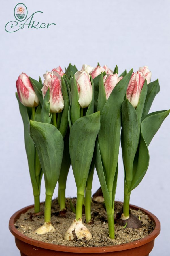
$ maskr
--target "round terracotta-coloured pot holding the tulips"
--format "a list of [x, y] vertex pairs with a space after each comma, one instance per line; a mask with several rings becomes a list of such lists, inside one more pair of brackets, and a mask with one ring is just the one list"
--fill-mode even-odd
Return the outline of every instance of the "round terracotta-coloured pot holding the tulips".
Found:
[[[160, 222], [156, 216], [152, 213], [139, 208], [135, 205], [130, 205], [132, 209], [142, 210], [148, 215], [151, 220], [155, 223], [155, 229], [151, 234], [146, 236], [143, 239], [136, 240], [131, 243], [114, 245], [114, 246], [102, 246], [102, 247], [74, 247], [74, 246], [63, 246], [63, 245], [54, 245], [50, 243], [44, 243], [41, 241], [33, 240], [27, 236], [24, 236], [20, 233], [14, 226], [15, 221], [19, 218], [22, 213], [25, 213], [27, 210], [32, 208], [33, 205], [27, 206], [18, 212], [16, 212], [9, 221], [10, 232], [15, 236], [15, 243], [18, 249], [21, 252], [21, 256], [54, 256], [54, 255], [96, 255], [100, 256], [103, 253], [106, 256], [148, 256], [150, 251], [154, 246], [154, 240], [160, 233]], [[88, 255], [87, 255], [88, 254]]]

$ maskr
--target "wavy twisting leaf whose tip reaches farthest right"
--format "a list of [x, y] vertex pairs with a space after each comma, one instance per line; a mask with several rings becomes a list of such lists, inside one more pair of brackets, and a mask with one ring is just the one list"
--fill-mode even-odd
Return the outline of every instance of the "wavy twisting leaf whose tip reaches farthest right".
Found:
[[148, 146], [162, 125], [165, 118], [169, 115], [169, 110], [157, 111], [145, 116], [141, 123], [141, 135], [139, 142], [139, 150], [135, 156], [136, 170], [134, 172], [131, 189], [135, 189], [145, 176], [149, 166]]

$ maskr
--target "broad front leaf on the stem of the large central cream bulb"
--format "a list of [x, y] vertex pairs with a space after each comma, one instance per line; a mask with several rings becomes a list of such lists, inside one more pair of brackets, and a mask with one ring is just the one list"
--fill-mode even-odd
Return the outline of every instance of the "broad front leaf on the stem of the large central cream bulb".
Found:
[[88, 178], [97, 134], [100, 129], [100, 113], [79, 118], [70, 130], [69, 152], [76, 186], [84, 189]]

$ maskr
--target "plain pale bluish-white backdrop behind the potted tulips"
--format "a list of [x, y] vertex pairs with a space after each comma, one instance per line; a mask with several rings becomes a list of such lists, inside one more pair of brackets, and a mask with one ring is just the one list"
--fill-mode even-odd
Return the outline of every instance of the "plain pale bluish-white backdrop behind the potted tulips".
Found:
[[[24, 0], [23, 0], [24, 1]], [[28, 14], [42, 11], [36, 21], [56, 23], [48, 29], [25, 27], [15, 33], [5, 32], [5, 24], [14, 20], [17, 1], [1, 1], [1, 118], [0, 118], [0, 214], [1, 255], [19, 255], [8, 220], [18, 209], [33, 203], [22, 119], [15, 98], [16, 79], [23, 71], [34, 79], [58, 65], [64, 70], [69, 62], [81, 69], [107, 64], [119, 71], [148, 65], [152, 81], [159, 78], [160, 93], [151, 111], [169, 108], [169, 25], [170, 1], [24, 1]], [[165, 119], [149, 146], [150, 166], [141, 184], [131, 193], [131, 203], [148, 209], [161, 221], [151, 256], [169, 255], [169, 130]], [[116, 199], [123, 200], [124, 173], [119, 157]], [[92, 193], [99, 187], [94, 176]], [[67, 196], [76, 195], [72, 174], [67, 180]], [[54, 197], [57, 196], [57, 188]], [[41, 201], [45, 199], [44, 181]]]

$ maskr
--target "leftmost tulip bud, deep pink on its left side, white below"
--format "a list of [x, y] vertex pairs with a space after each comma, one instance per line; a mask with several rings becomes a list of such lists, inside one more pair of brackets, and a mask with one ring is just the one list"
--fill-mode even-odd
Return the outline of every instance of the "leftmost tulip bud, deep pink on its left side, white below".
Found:
[[29, 80], [29, 77], [22, 73], [16, 80], [16, 88], [20, 102], [26, 107], [36, 107], [39, 104], [39, 99], [35, 94], [34, 88]]

